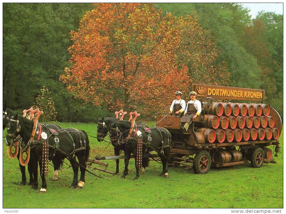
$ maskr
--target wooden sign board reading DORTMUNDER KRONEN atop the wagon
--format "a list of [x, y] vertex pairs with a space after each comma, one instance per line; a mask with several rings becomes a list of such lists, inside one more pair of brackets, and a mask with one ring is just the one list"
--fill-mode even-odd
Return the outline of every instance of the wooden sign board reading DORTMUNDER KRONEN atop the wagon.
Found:
[[265, 91], [259, 89], [245, 89], [202, 84], [192, 84], [191, 91], [197, 92], [197, 98], [212, 97], [215, 99], [250, 100], [262, 102], [265, 96]]

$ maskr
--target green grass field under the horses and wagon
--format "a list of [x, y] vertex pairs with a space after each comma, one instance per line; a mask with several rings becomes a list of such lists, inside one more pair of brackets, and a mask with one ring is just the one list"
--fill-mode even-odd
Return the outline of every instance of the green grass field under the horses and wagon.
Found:
[[[63, 128], [74, 127], [96, 131], [96, 124], [58, 123]], [[6, 130], [4, 131], [6, 132]], [[90, 135], [96, 136], [95, 133]], [[101, 151], [107, 142], [89, 138], [90, 158], [114, 155], [113, 147]], [[106, 138], [107, 139], [107, 138]], [[83, 189], [70, 189], [73, 171], [63, 165], [59, 180], [52, 181], [53, 167], [49, 166], [47, 193], [39, 194], [31, 186], [20, 186], [21, 172], [17, 159], [9, 159], [3, 144], [3, 208], [283, 208], [283, 133], [279, 138], [281, 152], [277, 164], [264, 164], [255, 169], [250, 164], [210, 169], [208, 174], [194, 174], [191, 169], [169, 168], [169, 178], [159, 177], [161, 165], [150, 161], [150, 166], [138, 181], [134, 160], [129, 164], [129, 175], [121, 180], [124, 161], [120, 160], [120, 174], [96, 178], [86, 173]], [[272, 147], [271, 147], [272, 148]], [[115, 161], [106, 160], [108, 170], [115, 171]], [[93, 164], [89, 167], [100, 167]], [[28, 180], [28, 171], [26, 169]], [[39, 178], [39, 188], [41, 179]]]

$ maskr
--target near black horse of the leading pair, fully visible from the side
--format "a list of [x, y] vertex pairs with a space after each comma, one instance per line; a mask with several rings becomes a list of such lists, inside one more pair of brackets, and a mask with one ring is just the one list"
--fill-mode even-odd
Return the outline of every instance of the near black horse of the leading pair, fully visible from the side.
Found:
[[[18, 116], [16, 114], [14, 119], [10, 119], [7, 124], [7, 133], [6, 133], [6, 144], [11, 145], [14, 139], [20, 135], [24, 142], [29, 142], [32, 130], [33, 130], [34, 122], [24, 118], [22, 116]], [[44, 173], [42, 173], [42, 143], [46, 139], [49, 144], [49, 160], [53, 161], [53, 165], [55, 169], [60, 167], [63, 159], [68, 157], [70, 160], [70, 164], [73, 168], [73, 182], [71, 187], [83, 188], [85, 182], [85, 168], [90, 146], [88, 136], [83, 130], [77, 130], [74, 128], [66, 128], [61, 130], [56, 130], [53, 132], [46, 126], [42, 125], [41, 127], [38, 125], [36, 130], [41, 130], [40, 140], [33, 140], [33, 144], [31, 145], [31, 157], [29, 162], [32, 164], [33, 168], [33, 178], [34, 184], [33, 186], [38, 186], [38, 164], [40, 167], [42, 186], [41, 193], [45, 193], [47, 190], [47, 183]], [[35, 136], [34, 139], [37, 139]], [[74, 157], [74, 158], [72, 158]], [[82, 167], [80, 167], [80, 180], [78, 181], [78, 168], [79, 165], [75, 161], [75, 157], [78, 158], [78, 162]], [[38, 162], [38, 164], [37, 164]], [[44, 169], [45, 170], [45, 169]]]

